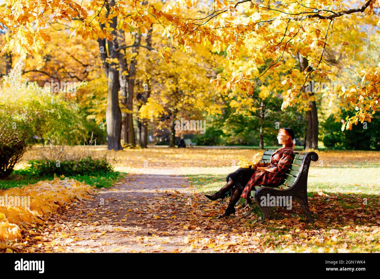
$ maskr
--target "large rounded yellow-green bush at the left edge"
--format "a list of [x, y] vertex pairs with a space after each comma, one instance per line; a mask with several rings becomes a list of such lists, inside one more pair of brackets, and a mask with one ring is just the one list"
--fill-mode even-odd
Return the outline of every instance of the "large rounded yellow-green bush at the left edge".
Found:
[[22, 66], [18, 62], [0, 85], [0, 179], [11, 174], [35, 138], [63, 142], [80, 129], [79, 107], [61, 92], [24, 80]]

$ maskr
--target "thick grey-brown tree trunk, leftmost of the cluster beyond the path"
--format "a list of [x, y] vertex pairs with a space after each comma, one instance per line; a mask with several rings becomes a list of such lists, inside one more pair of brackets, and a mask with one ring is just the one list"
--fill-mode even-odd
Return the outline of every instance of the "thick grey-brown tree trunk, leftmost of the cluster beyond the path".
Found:
[[[109, 4], [114, 6], [115, 0], [110, 0]], [[109, 10], [109, 9], [108, 9]], [[112, 18], [110, 24], [114, 30], [111, 32], [113, 39], [108, 41], [109, 58], [119, 58], [119, 45], [117, 43], [116, 34], [117, 17]], [[108, 96], [107, 96], [107, 111], [106, 111], [106, 123], [107, 123], [107, 135], [108, 135], [108, 149], [122, 150], [120, 144], [120, 132], [121, 132], [121, 111], [119, 107], [119, 71], [116, 68], [116, 63], [110, 63], [108, 68]]]

